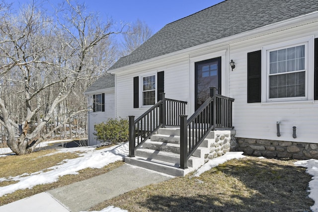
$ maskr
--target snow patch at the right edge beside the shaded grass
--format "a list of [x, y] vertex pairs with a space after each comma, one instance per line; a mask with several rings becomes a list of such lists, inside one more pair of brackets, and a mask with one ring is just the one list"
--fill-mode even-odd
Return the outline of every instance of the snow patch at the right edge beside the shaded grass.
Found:
[[311, 207], [311, 210], [313, 212], [318, 212], [318, 160], [300, 160], [294, 164], [296, 166], [306, 167], [306, 172], [313, 176], [312, 180], [309, 182], [310, 194], [308, 196], [315, 201], [315, 204]]

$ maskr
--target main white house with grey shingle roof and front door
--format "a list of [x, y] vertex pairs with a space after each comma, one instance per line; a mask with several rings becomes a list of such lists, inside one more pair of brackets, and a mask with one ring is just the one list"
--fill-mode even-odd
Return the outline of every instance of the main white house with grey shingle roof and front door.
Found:
[[108, 71], [116, 117], [139, 117], [160, 92], [191, 116], [214, 86], [235, 99], [236, 149], [318, 158], [317, 0], [225, 0], [167, 24]]

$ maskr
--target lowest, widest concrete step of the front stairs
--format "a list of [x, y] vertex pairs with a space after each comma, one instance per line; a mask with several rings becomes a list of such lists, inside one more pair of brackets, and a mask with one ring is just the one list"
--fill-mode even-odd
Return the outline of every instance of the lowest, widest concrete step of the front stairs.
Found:
[[192, 168], [181, 169], [179, 168], [179, 164], [167, 163], [156, 160], [148, 161], [147, 159], [139, 156], [125, 157], [125, 162], [131, 165], [139, 166], [142, 168], [150, 169], [172, 176], [185, 176], [191, 171], [194, 171], [194, 169]]

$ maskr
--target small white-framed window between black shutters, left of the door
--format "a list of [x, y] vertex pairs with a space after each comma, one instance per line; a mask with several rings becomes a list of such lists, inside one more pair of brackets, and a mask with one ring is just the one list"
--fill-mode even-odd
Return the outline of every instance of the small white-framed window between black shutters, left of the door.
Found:
[[157, 74], [140, 75], [141, 105], [154, 105], [157, 102]]

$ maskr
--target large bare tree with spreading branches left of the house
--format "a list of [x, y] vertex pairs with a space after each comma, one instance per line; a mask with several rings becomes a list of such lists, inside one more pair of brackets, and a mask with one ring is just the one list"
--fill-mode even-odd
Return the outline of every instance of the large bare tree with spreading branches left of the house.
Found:
[[[0, 6], [0, 124], [7, 145], [21, 155], [86, 111], [76, 102], [70, 106], [70, 97], [79, 96], [76, 89], [110, 65], [112, 57], [105, 59], [105, 51], [111, 49], [111, 35], [121, 30], [112, 31], [111, 20], [104, 23], [96, 14], [86, 14], [85, 5], [76, 1], [66, 0], [57, 8], [57, 24], [34, 2], [18, 15]], [[106, 50], [99, 46], [107, 44]]]

